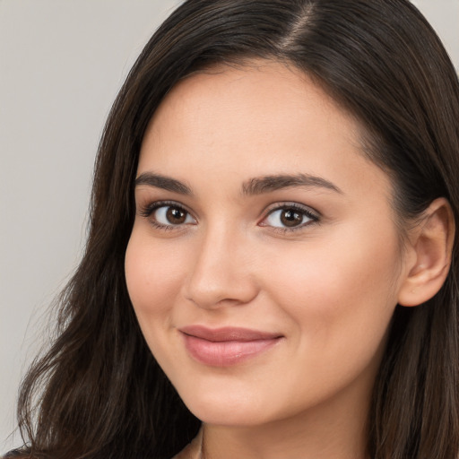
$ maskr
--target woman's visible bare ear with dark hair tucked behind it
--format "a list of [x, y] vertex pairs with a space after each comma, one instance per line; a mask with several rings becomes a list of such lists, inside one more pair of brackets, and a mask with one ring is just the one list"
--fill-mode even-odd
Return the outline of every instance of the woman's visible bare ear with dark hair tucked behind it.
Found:
[[431, 299], [446, 280], [451, 265], [455, 220], [445, 198], [433, 201], [418, 224], [409, 230], [406, 277], [398, 303], [418, 306]]

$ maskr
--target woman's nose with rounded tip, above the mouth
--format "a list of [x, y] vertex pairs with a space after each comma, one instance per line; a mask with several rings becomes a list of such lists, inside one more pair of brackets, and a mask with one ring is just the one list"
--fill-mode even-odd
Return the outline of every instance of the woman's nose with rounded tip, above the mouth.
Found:
[[223, 228], [202, 236], [184, 285], [186, 299], [208, 309], [244, 305], [255, 299], [254, 257], [244, 239]]

